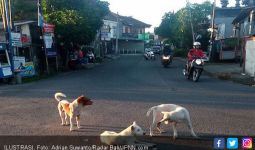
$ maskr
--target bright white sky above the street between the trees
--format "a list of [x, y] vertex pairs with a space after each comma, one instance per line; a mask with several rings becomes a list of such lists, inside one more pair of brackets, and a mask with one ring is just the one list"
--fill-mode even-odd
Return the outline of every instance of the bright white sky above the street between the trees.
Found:
[[[185, 7], [186, 0], [104, 0], [109, 2], [110, 10], [122, 16], [132, 16], [140, 21], [152, 25], [147, 31], [153, 32], [154, 27], [161, 23], [166, 12], [178, 11]], [[190, 3], [202, 3], [205, 0], [189, 0]], [[210, 0], [213, 2], [213, 0]], [[235, 0], [229, 0], [229, 6], [235, 5]], [[216, 0], [220, 6], [220, 0]]]

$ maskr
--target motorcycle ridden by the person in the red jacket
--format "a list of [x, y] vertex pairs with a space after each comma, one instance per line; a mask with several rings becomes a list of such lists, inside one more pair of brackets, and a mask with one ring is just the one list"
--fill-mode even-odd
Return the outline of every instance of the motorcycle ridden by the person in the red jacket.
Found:
[[192, 78], [192, 81], [197, 82], [203, 72], [204, 61], [205, 61], [205, 58], [194, 58], [192, 62], [190, 63], [189, 70], [187, 71], [187, 67], [186, 69], [183, 70], [183, 74], [185, 75], [185, 77], [187, 79]]

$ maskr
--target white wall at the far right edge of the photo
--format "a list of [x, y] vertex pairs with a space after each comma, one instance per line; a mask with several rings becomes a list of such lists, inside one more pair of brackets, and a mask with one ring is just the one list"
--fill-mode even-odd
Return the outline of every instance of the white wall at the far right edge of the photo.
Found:
[[246, 42], [245, 72], [254, 77], [255, 72], [255, 39]]

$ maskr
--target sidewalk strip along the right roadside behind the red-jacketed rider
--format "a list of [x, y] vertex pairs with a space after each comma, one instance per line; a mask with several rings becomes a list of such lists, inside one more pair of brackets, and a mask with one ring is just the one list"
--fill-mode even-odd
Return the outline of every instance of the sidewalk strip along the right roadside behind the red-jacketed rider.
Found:
[[[184, 58], [177, 58], [186, 62]], [[254, 78], [242, 74], [242, 67], [238, 63], [209, 63], [205, 62], [204, 72], [221, 80], [230, 80], [244, 85], [254, 86]]]

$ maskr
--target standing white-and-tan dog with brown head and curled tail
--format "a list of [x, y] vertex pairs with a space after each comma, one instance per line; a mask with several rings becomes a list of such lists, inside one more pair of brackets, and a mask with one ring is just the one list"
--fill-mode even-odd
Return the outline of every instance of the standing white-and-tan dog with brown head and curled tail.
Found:
[[[79, 96], [75, 99], [72, 103], [68, 102], [67, 100], [62, 100], [60, 97], [66, 97], [63, 93], [56, 93], [55, 99], [59, 102], [58, 103], [58, 111], [61, 118], [61, 125], [69, 125], [68, 123], [68, 116], [70, 118], [70, 131], [73, 131], [73, 119], [76, 118], [77, 127], [80, 128], [80, 111], [81, 108], [86, 105], [92, 105], [92, 101], [85, 97]], [[65, 119], [64, 119], [65, 116]]]

